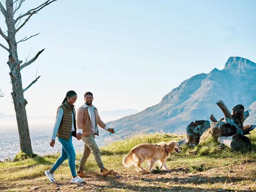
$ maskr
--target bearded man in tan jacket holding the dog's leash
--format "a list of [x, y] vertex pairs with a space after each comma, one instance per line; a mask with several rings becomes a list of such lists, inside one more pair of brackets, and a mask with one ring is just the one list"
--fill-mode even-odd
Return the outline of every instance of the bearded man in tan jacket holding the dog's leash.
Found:
[[[101, 161], [100, 149], [94, 140], [95, 135], [99, 136], [97, 124], [106, 131], [112, 133], [115, 131], [114, 129], [109, 128], [108, 125], [103, 123], [103, 121], [101, 121], [97, 108], [92, 105], [93, 95], [91, 92], [84, 93], [84, 100], [85, 103], [82, 105], [82, 107], [78, 108], [76, 115], [76, 127], [78, 130], [77, 139], [82, 139], [82, 141], [84, 141], [84, 152], [79, 162], [77, 175], [80, 177], [85, 176], [84, 165], [92, 151], [94, 159], [100, 168], [101, 174], [105, 176], [112, 173], [113, 170], [106, 169]], [[81, 132], [79, 129], [82, 129], [82, 134], [79, 134], [79, 132]]]

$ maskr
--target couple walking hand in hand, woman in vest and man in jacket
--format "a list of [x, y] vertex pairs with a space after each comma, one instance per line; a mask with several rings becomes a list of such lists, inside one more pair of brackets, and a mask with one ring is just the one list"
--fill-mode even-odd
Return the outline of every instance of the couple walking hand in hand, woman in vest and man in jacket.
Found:
[[[93, 95], [91, 92], [86, 92], [84, 94], [85, 102], [80, 108], [78, 108], [77, 114], [74, 108], [76, 99], [76, 92], [68, 91], [65, 99], [58, 108], [50, 146], [54, 147], [55, 138], [58, 137], [58, 140], [62, 145], [61, 156], [57, 159], [50, 170], [44, 172], [48, 179], [53, 183], [55, 183], [54, 171], [66, 159], [68, 159], [68, 164], [73, 177], [70, 182], [84, 182], [84, 180], [82, 180], [80, 177], [85, 176], [84, 166], [87, 158], [91, 154], [91, 151], [103, 176], [113, 172], [112, 169], [108, 170], [104, 167], [100, 157], [100, 149], [94, 139], [95, 135], [99, 136], [98, 125], [106, 131], [112, 133], [115, 132], [114, 129], [109, 128], [108, 125], [103, 123], [103, 121], [100, 119], [97, 108], [92, 105]], [[75, 167], [76, 153], [72, 144], [72, 136], [76, 137], [77, 140], [82, 140], [84, 142], [84, 151], [79, 162], [78, 172], [76, 172]]]

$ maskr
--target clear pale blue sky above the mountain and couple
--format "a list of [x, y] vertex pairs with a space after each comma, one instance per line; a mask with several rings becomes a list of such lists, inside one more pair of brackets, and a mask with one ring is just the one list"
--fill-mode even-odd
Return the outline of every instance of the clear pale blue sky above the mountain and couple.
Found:
[[[26, 0], [20, 10], [43, 3]], [[17, 34], [19, 59], [39, 58], [22, 69], [27, 114], [55, 116], [68, 90], [94, 94], [99, 111], [143, 110], [179, 84], [230, 56], [256, 62], [256, 1], [59, 0], [31, 17]], [[17, 15], [18, 16], [18, 15]], [[3, 15], [0, 26], [5, 29]], [[5, 44], [0, 37], [0, 43]], [[8, 52], [0, 47], [0, 112], [15, 114]]]

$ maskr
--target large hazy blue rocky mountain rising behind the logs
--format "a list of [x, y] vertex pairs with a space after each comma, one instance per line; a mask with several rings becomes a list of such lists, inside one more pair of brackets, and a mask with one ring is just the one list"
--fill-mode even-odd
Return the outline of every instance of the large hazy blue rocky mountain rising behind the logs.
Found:
[[214, 68], [182, 82], [165, 95], [160, 103], [135, 115], [109, 122], [121, 134], [152, 131], [184, 130], [195, 120], [206, 119], [213, 113], [223, 116], [216, 102], [223, 100], [231, 110], [242, 104], [250, 111], [244, 124], [256, 124], [256, 64], [241, 57], [230, 57], [224, 69]]

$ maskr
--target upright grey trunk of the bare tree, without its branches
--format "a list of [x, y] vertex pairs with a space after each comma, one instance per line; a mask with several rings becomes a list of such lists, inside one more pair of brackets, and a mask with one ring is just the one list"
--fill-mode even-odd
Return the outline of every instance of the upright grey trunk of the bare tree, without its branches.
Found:
[[16, 29], [15, 20], [13, 19], [13, 2], [12, 0], [6, 0], [6, 9], [8, 17], [6, 17], [5, 22], [8, 28], [8, 39], [9, 39], [9, 61], [7, 64], [11, 72], [12, 82], [12, 100], [14, 103], [14, 109], [16, 113], [16, 120], [18, 124], [18, 131], [20, 137], [20, 149], [27, 154], [32, 154], [31, 140], [29, 136], [28, 129], [28, 119], [26, 113], [27, 101], [24, 99], [21, 74], [20, 74], [20, 61], [18, 59], [17, 53], [17, 43], [15, 39]]

